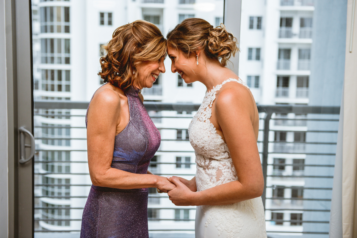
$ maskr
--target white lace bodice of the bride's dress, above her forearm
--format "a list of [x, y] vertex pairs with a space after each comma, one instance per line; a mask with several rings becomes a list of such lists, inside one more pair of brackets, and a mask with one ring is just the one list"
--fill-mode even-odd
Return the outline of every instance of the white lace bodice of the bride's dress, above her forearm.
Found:
[[197, 191], [202, 191], [223, 183], [237, 180], [237, 173], [233, 166], [227, 144], [217, 134], [216, 128], [210, 121], [212, 103], [216, 93], [227, 82], [237, 82], [249, 88], [241, 79], [227, 79], [222, 84], [213, 87], [206, 93], [205, 98], [193, 117], [188, 134], [190, 143], [196, 154], [196, 183]]

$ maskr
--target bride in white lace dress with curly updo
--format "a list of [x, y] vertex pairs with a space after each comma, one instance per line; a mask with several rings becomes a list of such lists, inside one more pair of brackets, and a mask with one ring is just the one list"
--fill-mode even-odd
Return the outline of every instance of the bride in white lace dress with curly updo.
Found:
[[225, 26], [189, 18], [167, 34], [171, 71], [185, 83], [207, 87], [188, 133], [197, 172], [191, 180], [168, 177], [177, 206], [197, 206], [196, 238], [266, 238], [264, 188], [257, 148], [259, 116], [248, 86], [226, 68], [238, 51]]

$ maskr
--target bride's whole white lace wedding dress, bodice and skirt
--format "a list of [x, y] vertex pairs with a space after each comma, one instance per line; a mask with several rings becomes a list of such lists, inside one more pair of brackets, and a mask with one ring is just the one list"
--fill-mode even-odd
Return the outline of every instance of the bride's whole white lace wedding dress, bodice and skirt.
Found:
[[[223, 84], [241, 79], [227, 79], [207, 92], [193, 117], [188, 133], [195, 149], [197, 191], [238, 180], [227, 144], [210, 122], [211, 107]], [[237, 121], [237, 123], [239, 123]], [[220, 206], [197, 206], [196, 238], [266, 238], [265, 215], [261, 197]]]

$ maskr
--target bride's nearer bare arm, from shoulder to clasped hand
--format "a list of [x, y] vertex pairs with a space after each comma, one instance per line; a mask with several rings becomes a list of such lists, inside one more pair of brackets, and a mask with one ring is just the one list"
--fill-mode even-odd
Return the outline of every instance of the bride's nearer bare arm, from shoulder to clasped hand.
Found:
[[183, 183], [170, 177], [169, 181], [176, 184], [176, 188], [169, 191], [170, 200], [175, 205], [227, 205], [262, 195], [264, 179], [252, 123], [255, 114], [253, 99], [242, 87], [221, 90], [217, 95], [215, 113], [238, 180], [191, 192]]

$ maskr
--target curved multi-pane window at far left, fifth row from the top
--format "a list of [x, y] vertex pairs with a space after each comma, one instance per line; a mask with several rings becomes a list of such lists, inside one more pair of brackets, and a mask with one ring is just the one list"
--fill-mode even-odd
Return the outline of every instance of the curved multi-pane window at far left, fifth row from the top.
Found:
[[[70, 138], [70, 125], [54, 125], [42, 123], [42, 137]], [[46, 145], [70, 146], [69, 139], [42, 139]]]

